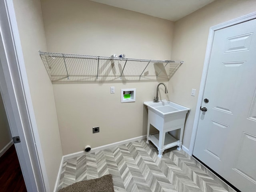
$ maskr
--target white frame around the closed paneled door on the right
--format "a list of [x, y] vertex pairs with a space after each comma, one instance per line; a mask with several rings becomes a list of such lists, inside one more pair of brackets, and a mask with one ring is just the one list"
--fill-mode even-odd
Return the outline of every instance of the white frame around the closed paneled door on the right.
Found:
[[248, 20], [252, 20], [255, 18], [256, 18], [256, 12], [254, 12], [252, 14], [248, 14], [246, 16], [242, 16], [240, 18], [237, 18], [237, 19], [234, 19], [234, 20], [231, 20], [228, 22], [224, 22], [224, 23], [216, 25], [216, 26], [212, 26], [210, 28], [207, 47], [206, 47], [206, 54], [205, 54], [205, 58], [204, 58], [204, 68], [203, 68], [203, 72], [202, 72], [202, 78], [201, 78], [200, 89], [199, 89], [199, 93], [198, 93], [198, 100], [197, 100], [197, 105], [196, 105], [196, 115], [194, 118], [193, 130], [192, 130], [192, 135], [191, 135], [191, 140], [190, 140], [190, 147], [188, 150], [188, 154], [190, 156], [193, 153], [194, 144], [196, 141], [196, 131], [197, 131], [198, 122], [199, 122], [199, 118], [200, 118], [200, 106], [202, 105], [202, 101], [203, 101], [204, 88], [205, 88], [205, 83], [206, 83], [208, 66], [209, 66], [209, 62], [210, 62], [210, 55], [211, 55], [211, 51], [212, 51], [212, 43], [213, 43], [214, 33], [216, 30], [220, 30], [222, 28], [226, 28], [226, 27], [236, 25], [236, 24], [239, 24], [242, 22], [246, 22]]

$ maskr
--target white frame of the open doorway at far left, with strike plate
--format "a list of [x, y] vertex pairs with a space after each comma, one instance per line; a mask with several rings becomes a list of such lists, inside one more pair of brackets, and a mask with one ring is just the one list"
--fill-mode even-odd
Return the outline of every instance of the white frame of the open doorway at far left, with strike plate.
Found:
[[28, 192], [50, 192], [12, 0], [0, 0], [0, 91]]

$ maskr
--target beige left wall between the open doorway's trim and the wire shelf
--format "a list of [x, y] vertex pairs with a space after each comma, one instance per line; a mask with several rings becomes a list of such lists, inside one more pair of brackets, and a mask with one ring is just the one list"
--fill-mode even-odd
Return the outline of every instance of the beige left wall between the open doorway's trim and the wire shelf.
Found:
[[52, 84], [38, 50], [46, 49], [40, 0], [14, 0], [36, 124], [42, 146], [50, 190], [53, 191], [62, 149]]

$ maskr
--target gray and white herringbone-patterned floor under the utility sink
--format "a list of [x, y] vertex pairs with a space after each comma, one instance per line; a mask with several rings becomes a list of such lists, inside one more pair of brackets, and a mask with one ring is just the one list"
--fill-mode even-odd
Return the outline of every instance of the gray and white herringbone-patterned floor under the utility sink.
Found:
[[235, 192], [185, 152], [157, 155], [140, 140], [65, 160], [58, 189], [112, 174], [116, 192]]

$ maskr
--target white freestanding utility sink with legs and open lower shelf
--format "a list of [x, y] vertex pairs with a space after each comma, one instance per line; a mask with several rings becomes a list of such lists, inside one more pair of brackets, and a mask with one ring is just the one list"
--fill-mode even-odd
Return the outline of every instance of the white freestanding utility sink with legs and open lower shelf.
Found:
[[[151, 141], [158, 148], [158, 157], [162, 158], [164, 150], [182, 146], [182, 137], [186, 114], [190, 108], [179, 104], [160, 100], [158, 103], [153, 101], [144, 102], [148, 106], [148, 130], [147, 141]], [[159, 133], [150, 135], [150, 124], [154, 126]], [[180, 129], [179, 140], [172, 137], [168, 132]]]

